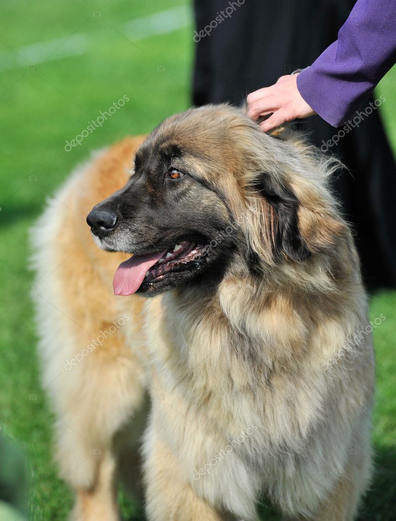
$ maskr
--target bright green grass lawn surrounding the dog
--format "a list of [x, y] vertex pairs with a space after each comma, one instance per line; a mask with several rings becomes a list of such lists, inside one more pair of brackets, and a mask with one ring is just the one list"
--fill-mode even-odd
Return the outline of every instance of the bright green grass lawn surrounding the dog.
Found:
[[[126, 134], [148, 132], [166, 116], [189, 106], [191, 28], [134, 43], [124, 32], [126, 22], [133, 18], [182, 4], [182, 0], [151, 0], [147, 4], [112, 0], [106, 5], [105, 0], [95, 5], [77, 0], [34, 4], [17, 0], [1, 7], [0, 53], [10, 53], [12, 59], [18, 59], [12, 49], [59, 36], [66, 39], [73, 32], [86, 33], [89, 42], [82, 56], [43, 64], [28, 60], [23, 67], [0, 75], [0, 426], [28, 457], [32, 473], [29, 501], [35, 519], [66, 519], [71, 494], [57, 478], [51, 460], [53, 415], [40, 388], [30, 298], [34, 289], [27, 264], [28, 228], [46, 197], [91, 150]], [[100, 10], [101, 16], [94, 17], [94, 10]], [[29, 65], [37, 65], [37, 71], [29, 71]], [[387, 98], [381, 111], [394, 146], [395, 84], [393, 69], [379, 87]], [[81, 146], [66, 153], [65, 141], [124, 94], [130, 101]], [[371, 316], [381, 313], [386, 321], [374, 332], [377, 473], [361, 516], [364, 521], [390, 521], [396, 503], [395, 293], [373, 296]], [[125, 519], [143, 519], [138, 505], [122, 494], [120, 502]], [[265, 519], [275, 521], [278, 516], [267, 512]]]

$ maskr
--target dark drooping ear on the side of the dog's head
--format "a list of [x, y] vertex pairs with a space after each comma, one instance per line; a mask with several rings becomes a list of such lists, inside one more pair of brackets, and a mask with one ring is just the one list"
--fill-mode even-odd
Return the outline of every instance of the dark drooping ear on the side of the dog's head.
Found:
[[305, 261], [311, 254], [298, 226], [299, 200], [293, 191], [274, 179], [267, 172], [262, 172], [253, 185], [263, 198], [266, 223], [270, 232], [267, 238], [272, 245], [275, 262], [285, 255], [297, 262]]

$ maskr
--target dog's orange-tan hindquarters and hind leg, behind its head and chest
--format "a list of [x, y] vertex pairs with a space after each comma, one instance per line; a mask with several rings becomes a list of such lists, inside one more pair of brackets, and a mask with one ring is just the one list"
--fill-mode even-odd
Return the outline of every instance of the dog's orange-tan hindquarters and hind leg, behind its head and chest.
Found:
[[[114, 297], [112, 276], [125, 256], [100, 251], [85, 222], [108, 195], [99, 184], [111, 192], [125, 182], [124, 159], [129, 163], [133, 154], [127, 162], [122, 153], [128, 155], [122, 148], [109, 158], [108, 170], [103, 159], [100, 169], [91, 165], [72, 177], [33, 232], [42, 381], [57, 420], [60, 475], [78, 491], [72, 514], [78, 521], [118, 518], [115, 441], [144, 392], [134, 351], [142, 301]], [[111, 180], [117, 162], [119, 185]]]

